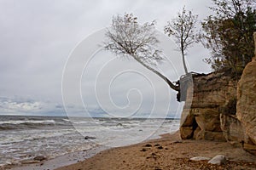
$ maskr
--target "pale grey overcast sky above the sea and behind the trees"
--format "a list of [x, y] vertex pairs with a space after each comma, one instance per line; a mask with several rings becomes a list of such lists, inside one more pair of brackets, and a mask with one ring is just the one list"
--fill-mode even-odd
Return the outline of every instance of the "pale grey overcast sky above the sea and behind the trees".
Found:
[[[179, 116], [183, 104], [166, 82], [99, 46], [113, 15], [156, 20], [161, 34], [184, 5], [199, 20], [211, 14], [211, 1], [201, 0], [0, 0], [0, 115]], [[171, 38], [160, 39], [166, 60], [158, 69], [177, 81], [180, 54]], [[201, 44], [190, 48], [189, 71], [211, 71], [208, 56]]]

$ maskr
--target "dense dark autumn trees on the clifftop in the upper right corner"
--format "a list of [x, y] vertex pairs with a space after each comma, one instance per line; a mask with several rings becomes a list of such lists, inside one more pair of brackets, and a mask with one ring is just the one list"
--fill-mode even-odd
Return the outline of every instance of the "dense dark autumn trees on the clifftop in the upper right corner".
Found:
[[212, 0], [212, 3], [215, 14], [202, 22], [201, 40], [212, 51], [206, 61], [215, 71], [231, 68], [241, 74], [253, 57], [255, 0]]

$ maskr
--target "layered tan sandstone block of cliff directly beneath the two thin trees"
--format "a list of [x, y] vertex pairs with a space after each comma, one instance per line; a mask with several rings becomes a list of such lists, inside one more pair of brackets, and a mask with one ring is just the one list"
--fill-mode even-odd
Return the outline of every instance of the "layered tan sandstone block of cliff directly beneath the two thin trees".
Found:
[[[193, 75], [193, 84], [187, 88], [187, 99], [183, 107], [181, 138], [225, 141], [220, 115], [221, 111], [230, 107], [230, 101], [234, 99], [236, 81], [230, 77], [229, 71]], [[228, 109], [232, 110], [235, 115], [236, 109]]]

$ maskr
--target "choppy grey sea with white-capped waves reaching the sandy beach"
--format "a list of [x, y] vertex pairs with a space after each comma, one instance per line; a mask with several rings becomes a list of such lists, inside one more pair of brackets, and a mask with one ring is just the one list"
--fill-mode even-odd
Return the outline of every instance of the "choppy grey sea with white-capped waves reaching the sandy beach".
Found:
[[137, 144], [173, 133], [179, 120], [166, 118], [101, 118], [0, 116], [0, 167], [53, 159], [71, 152]]

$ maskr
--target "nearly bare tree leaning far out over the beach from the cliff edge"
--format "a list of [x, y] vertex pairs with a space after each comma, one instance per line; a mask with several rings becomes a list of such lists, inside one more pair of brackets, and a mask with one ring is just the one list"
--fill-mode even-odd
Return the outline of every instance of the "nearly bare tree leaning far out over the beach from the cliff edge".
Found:
[[113, 16], [112, 26], [106, 32], [108, 38], [105, 49], [113, 54], [133, 58], [138, 63], [161, 77], [170, 88], [179, 90], [166, 76], [154, 69], [154, 65], [163, 59], [161, 51], [157, 49], [159, 43], [154, 28], [154, 21], [139, 25], [133, 14]]

